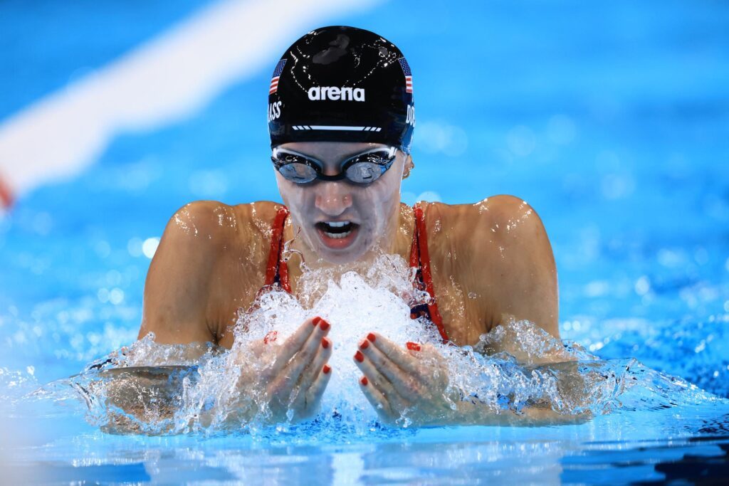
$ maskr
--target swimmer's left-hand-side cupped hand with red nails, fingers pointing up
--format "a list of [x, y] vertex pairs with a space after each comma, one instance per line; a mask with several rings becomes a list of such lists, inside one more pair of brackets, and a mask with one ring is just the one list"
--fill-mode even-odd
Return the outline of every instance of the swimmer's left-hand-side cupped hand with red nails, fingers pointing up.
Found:
[[238, 386], [243, 393], [258, 396], [255, 401], [259, 409], [262, 404], [268, 409], [268, 421], [297, 422], [316, 414], [331, 377], [329, 329], [322, 318], [307, 319], [282, 345], [276, 345], [276, 332], [271, 332], [254, 346], [252, 351], [259, 358], [272, 347], [275, 356], [254, 380], [246, 380], [247, 374], [241, 373]]

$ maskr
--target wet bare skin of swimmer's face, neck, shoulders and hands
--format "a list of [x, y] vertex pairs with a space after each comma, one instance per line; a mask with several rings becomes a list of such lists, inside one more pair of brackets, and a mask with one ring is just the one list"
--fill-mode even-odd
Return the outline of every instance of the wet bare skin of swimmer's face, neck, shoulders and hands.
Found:
[[[283, 147], [321, 161], [324, 173], [333, 175], [342, 160], [373, 146], [302, 142]], [[300, 186], [274, 171], [291, 212], [284, 240], [293, 240], [289, 278], [294, 292], [301, 275], [299, 259], [308, 267], [342, 270], [347, 264], [370, 262], [381, 252], [408, 260], [415, 223], [412, 208], [399, 203], [399, 196], [410, 163], [398, 151], [389, 171], [368, 187], [345, 181]], [[163, 344], [215, 342], [230, 348], [238, 309], [252, 304], [265, 281], [270, 224], [279, 207], [270, 202], [229, 206], [198, 201], [179, 209], [149, 267], [139, 337], [155, 332], [155, 340]], [[424, 203], [423, 208], [435, 294], [454, 344], [473, 345], [508, 318], [528, 319], [559, 337], [554, 257], [539, 216], [526, 202], [499, 195], [475, 204]], [[321, 231], [324, 222], [345, 221], [354, 230], [344, 242]], [[290, 388], [284, 394], [304, 393], [318, 402], [331, 348], [312, 347], [311, 340], [305, 348], [295, 338], [289, 337], [282, 349], [294, 350], [292, 356], [301, 353], [306, 364], [297, 383], [286, 383]], [[405, 343], [379, 334], [375, 340], [362, 337], [364, 342], [364, 348], [352, 350], [367, 378], [359, 386], [383, 419], [396, 418], [405, 407], [417, 409], [421, 423], [429, 423], [430, 415], [442, 416], [437, 393], [426, 393], [445, 386], [432, 381], [438, 369], [445, 369], [434, 348], [406, 349]], [[508, 345], [504, 350], [510, 350]], [[272, 375], [270, 380], [268, 385], [278, 378]], [[311, 401], [306, 406], [311, 408]], [[469, 420], [461, 416], [451, 422]]]

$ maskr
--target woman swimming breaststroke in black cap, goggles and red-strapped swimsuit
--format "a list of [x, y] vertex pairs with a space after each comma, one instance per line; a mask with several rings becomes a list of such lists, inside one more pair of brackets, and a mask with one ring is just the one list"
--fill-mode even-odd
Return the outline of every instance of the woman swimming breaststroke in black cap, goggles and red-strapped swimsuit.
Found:
[[[268, 95], [270, 163], [284, 204], [198, 201], [179, 209], [149, 267], [139, 338], [153, 332], [160, 344], [231, 348], [238, 310], [269, 289], [295, 292], [301, 262], [343, 272], [383, 253], [416, 269], [415, 285], [432, 300], [414, 306], [412, 317], [426, 316], [444, 342], [475, 345], [509, 319], [558, 338], [554, 257], [525, 201], [400, 202], [402, 179], [415, 167], [415, 126], [413, 74], [394, 44], [344, 26], [297, 40], [276, 64]], [[487, 178], [484, 163], [474, 160], [460, 176]], [[280, 420], [287, 409], [293, 420], [316, 412], [332, 372], [327, 333], [335, 325], [305, 321], [259, 381]], [[432, 345], [370, 333], [351, 353], [362, 370], [353, 385], [383, 420], [407, 408], [415, 423], [474, 422], [466, 407], [444, 413], [444, 358]]]

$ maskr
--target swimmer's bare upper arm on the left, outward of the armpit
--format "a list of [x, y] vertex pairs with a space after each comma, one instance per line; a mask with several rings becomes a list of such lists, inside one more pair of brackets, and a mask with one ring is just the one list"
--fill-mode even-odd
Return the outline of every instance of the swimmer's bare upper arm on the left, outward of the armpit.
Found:
[[149, 265], [139, 338], [154, 332], [161, 344], [214, 341], [208, 299], [221, 244], [214, 235], [219, 205], [190, 203], [171, 217]]

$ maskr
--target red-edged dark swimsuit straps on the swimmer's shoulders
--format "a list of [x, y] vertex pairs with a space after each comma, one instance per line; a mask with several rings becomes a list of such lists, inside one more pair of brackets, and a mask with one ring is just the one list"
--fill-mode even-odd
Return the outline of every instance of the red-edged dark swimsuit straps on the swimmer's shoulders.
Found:
[[[425, 316], [438, 329], [443, 342], [448, 342], [448, 334], [443, 326], [443, 318], [438, 311], [438, 305], [435, 302], [435, 289], [433, 287], [433, 278], [430, 273], [430, 256], [428, 254], [428, 240], [426, 238], [425, 214], [423, 208], [416, 204], [413, 206], [415, 213], [415, 231], [413, 232], [413, 244], [410, 246], [410, 267], [416, 268], [415, 285], [418, 289], [428, 292], [430, 299], [427, 304], [419, 304], [410, 308], [410, 318], [416, 319]], [[270, 289], [273, 286], [280, 286], [281, 289], [291, 293], [291, 284], [289, 283], [289, 267], [286, 261], [282, 259], [284, 254], [284, 224], [286, 217], [289, 216], [289, 210], [286, 206], [281, 206], [276, 212], [276, 217], [271, 224], [271, 247], [268, 252], [268, 262], [266, 264], [266, 280], [262, 289]]]

